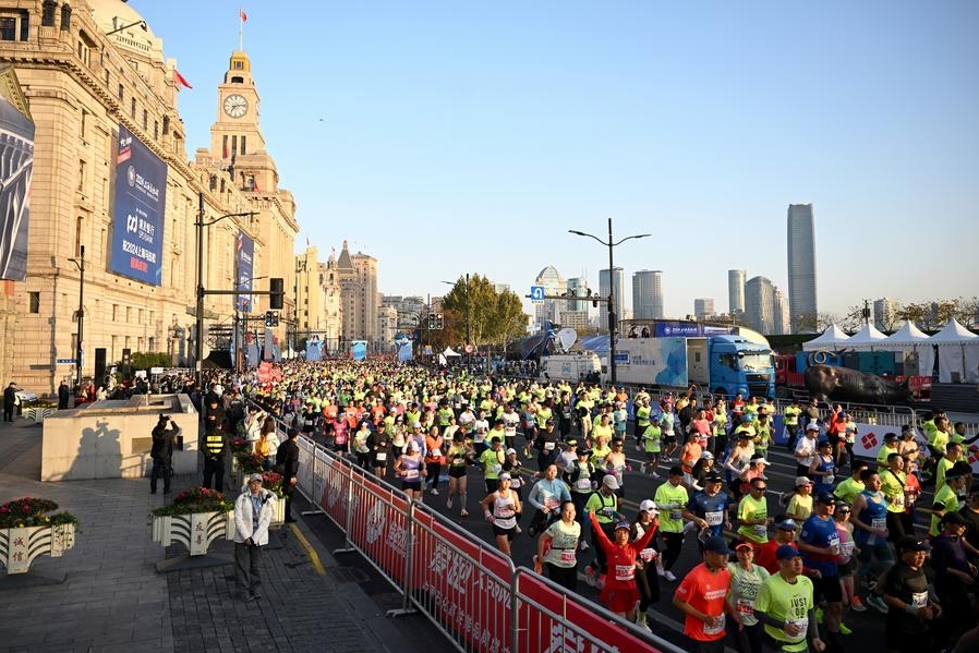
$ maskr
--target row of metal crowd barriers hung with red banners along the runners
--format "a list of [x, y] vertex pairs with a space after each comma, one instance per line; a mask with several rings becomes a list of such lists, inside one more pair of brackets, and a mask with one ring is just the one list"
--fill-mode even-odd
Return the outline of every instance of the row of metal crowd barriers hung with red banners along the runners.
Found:
[[[402, 596], [388, 616], [422, 614], [459, 651], [679, 653], [582, 596], [568, 595], [424, 504], [306, 437], [298, 489]], [[650, 640], [655, 644], [651, 644]]]

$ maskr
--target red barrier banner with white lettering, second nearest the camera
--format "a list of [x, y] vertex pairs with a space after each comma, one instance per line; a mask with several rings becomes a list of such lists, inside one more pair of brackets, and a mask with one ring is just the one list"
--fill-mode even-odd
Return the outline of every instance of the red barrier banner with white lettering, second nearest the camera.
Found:
[[512, 653], [509, 561], [423, 510], [414, 512], [412, 595], [467, 651]]

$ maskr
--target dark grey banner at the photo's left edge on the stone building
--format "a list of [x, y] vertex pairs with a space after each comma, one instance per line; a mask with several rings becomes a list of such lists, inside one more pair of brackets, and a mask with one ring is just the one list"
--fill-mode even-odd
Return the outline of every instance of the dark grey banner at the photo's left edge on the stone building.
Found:
[[0, 96], [0, 279], [27, 276], [27, 218], [34, 170], [34, 123]]

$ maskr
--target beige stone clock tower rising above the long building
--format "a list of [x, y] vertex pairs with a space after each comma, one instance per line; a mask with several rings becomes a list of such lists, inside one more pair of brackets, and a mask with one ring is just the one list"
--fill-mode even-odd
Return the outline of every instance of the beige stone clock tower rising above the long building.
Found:
[[278, 176], [258, 126], [258, 89], [252, 62], [241, 50], [231, 53], [218, 85], [217, 121], [210, 128], [210, 156], [220, 159], [245, 192], [275, 192]]

